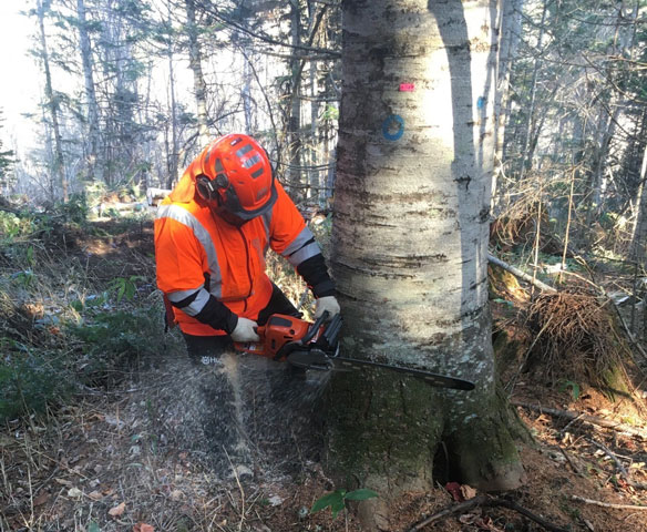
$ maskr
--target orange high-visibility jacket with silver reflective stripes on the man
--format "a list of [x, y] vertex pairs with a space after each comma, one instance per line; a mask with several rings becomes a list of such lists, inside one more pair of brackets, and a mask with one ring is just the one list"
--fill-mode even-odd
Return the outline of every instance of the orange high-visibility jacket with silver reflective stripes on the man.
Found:
[[234, 314], [256, 319], [273, 290], [265, 273], [268, 248], [286, 257], [295, 268], [321, 250], [278, 181], [278, 197], [271, 209], [236, 227], [196, 201], [192, 180], [185, 173], [174, 193], [157, 208], [157, 286], [171, 303], [195, 296], [188, 306], [173, 309], [183, 332], [222, 335], [223, 330], [194, 317], [209, 295]]

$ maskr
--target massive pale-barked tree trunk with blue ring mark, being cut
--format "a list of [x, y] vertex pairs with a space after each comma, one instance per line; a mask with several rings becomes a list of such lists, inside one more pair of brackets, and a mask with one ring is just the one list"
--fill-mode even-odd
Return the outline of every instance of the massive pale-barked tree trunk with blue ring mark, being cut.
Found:
[[332, 234], [343, 349], [476, 382], [459, 392], [387, 374], [332, 381], [329, 467], [387, 495], [433, 485], [441, 440], [452, 478], [481, 489], [522, 479], [495, 391], [487, 306], [492, 6], [343, 3]]

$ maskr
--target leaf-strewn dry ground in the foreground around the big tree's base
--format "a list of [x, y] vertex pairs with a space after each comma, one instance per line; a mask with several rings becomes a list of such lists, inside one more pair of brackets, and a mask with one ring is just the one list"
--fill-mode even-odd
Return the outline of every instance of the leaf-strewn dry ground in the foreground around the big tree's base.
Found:
[[[260, 464], [253, 479], [223, 478], [192, 450], [157, 440], [160, 421], [154, 413], [146, 415], [146, 398], [162, 385], [140, 382], [107, 397], [89, 395], [44, 421], [9, 423], [0, 436], [7, 530], [151, 530], [137, 529], [137, 523], [158, 531], [361, 530], [351, 512], [336, 520], [329, 510], [308, 513], [318, 498], [333, 489], [316, 462], [304, 460], [289, 475], [276, 475], [271, 466]], [[537, 403], [537, 390], [524, 386], [520, 391]], [[524, 399], [522, 393], [517, 397]], [[541, 402], [618, 422], [635, 419], [630, 409], [609, 405], [596, 393], [577, 405], [550, 397]], [[643, 438], [583, 421], [568, 423], [522, 407], [518, 412], [537, 443], [521, 449], [527, 483], [493, 498], [516, 502], [553, 530], [647, 530]], [[647, 434], [645, 428], [631, 427]], [[618, 473], [615, 460], [623, 462], [635, 487]], [[458, 504], [444, 487], [409, 494], [396, 507], [391, 530], [411, 530]], [[414, 530], [551, 529], [515, 510], [480, 505]]]

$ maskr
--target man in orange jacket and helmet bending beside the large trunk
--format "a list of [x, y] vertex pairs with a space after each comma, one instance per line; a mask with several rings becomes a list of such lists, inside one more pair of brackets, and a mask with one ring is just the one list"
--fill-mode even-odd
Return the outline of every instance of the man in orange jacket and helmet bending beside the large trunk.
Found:
[[230, 341], [256, 341], [270, 315], [298, 310], [265, 273], [268, 248], [312, 290], [315, 316], [339, 313], [310, 229], [250, 136], [215, 140], [186, 168], [155, 219], [157, 286], [192, 358], [214, 360]]

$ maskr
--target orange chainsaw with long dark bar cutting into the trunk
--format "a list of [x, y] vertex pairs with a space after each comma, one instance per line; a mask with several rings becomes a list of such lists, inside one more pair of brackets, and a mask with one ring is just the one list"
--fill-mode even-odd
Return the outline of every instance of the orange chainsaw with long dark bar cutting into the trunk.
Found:
[[324, 313], [315, 323], [294, 316], [274, 314], [265, 326], [257, 328], [259, 341], [235, 342], [236, 350], [258, 355], [276, 361], [287, 361], [305, 370], [357, 371], [366, 368], [381, 368], [398, 371], [424, 380], [437, 388], [473, 390], [474, 383], [445, 375], [432, 374], [422, 369], [391, 366], [389, 364], [341, 357], [339, 355], [339, 332], [341, 316], [337, 314], [326, 321]]

